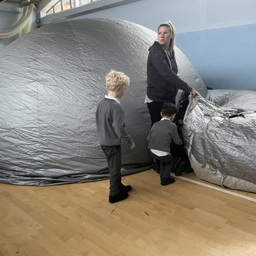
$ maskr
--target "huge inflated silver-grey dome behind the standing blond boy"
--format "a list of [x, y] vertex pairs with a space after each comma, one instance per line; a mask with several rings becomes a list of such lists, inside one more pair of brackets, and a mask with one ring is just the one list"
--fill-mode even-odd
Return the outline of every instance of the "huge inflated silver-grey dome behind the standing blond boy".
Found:
[[[155, 39], [155, 32], [132, 22], [94, 18], [43, 26], [7, 46], [0, 53], [0, 182], [54, 185], [109, 177], [95, 110], [110, 70], [131, 79], [121, 104], [136, 147], [123, 147], [122, 174], [149, 169], [144, 99]], [[176, 55], [180, 77], [209, 99], [178, 48]]]

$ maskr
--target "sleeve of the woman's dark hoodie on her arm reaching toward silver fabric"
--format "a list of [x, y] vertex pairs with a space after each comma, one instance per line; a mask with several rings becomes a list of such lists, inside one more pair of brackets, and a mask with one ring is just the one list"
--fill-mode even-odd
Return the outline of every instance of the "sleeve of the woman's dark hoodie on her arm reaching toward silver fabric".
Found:
[[170, 69], [169, 65], [165, 61], [164, 53], [156, 47], [153, 48], [151, 51], [151, 61], [155, 66], [156, 70], [166, 81], [169, 82], [169, 84], [172, 84], [177, 88], [182, 89], [186, 93], [190, 93], [192, 88], [187, 85], [187, 83], [184, 82], [182, 79], [180, 79], [179, 76], [177, 76], [177, 74], [172, 71], [172, 69]]

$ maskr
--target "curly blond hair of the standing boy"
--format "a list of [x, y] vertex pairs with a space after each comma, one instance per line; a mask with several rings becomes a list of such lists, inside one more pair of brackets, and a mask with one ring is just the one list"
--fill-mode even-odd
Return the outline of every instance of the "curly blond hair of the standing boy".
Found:
[[108, 91], [115, 91], [115, 89], [120, 86], [121, 88], [126, 88], [130, 85], [130, 78], [126, 76], [123, 72], [118, 72], [111, 70], [106, 75], [106, 87]]

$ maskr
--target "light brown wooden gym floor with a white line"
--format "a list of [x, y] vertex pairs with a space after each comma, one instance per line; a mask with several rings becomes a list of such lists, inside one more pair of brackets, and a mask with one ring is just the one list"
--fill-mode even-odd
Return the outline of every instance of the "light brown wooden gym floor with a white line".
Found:
[[0, 255], [256, 255], [255, 201], [178, 178], [161, 186], [152, 170], [123, 183], [133, 190], [117, 204], [109, 180], [0, 184]]

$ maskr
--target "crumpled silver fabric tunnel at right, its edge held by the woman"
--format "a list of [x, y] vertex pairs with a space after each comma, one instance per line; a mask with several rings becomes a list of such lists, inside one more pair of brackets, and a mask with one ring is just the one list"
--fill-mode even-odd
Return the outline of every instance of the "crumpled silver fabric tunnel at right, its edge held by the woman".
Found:
[[196, 96], [183, 120], [184, 144], [195, 175], [256, 193], [256, 91], [210, 94], [215, 103]]

